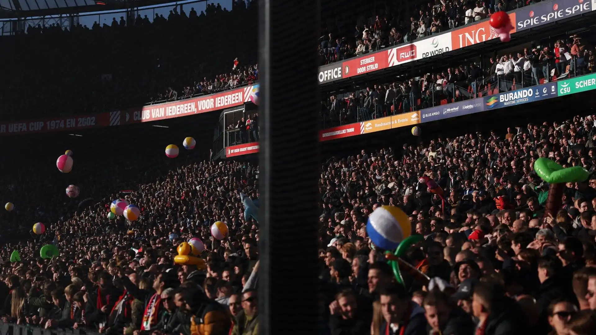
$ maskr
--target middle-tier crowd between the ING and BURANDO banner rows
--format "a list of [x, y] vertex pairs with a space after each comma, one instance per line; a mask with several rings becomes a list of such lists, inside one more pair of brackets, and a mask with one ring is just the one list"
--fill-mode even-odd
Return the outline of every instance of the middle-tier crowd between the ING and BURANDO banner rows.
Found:
[[321, 103], [324, 128], [535, 86], [596, 72], [594, 47], [575, 34], [551, 46], [448, 67], [403, 82], [332, 95]]

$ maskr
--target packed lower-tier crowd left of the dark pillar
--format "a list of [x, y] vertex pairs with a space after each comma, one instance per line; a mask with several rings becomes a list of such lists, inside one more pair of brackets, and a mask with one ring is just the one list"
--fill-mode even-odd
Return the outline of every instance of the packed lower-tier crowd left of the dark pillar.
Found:
[[[161, 176], [126, 196], [142, 211], [134, 224], [107, 218], [110, 199], [120, 197], [111, 194], [73, 214], [45, 213], [43, 235], [5, 241], [3, 322], [107, 334], [258, 333], [259, 236], [240, 200], [240, 192], [258, 197], [258, 168], [203, 161], [148, 172], [144, 179]], [[216, 220], [228, 224], [224, 241], [209, 241]], [[191, 237], [205, 242], [206, 271], [173, 265]], [[44, 244], [60, 255], [39, 258]], [[13, 250], [21, 261], [8, 262]]]

